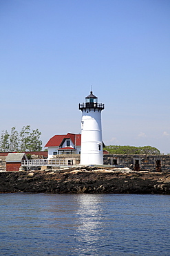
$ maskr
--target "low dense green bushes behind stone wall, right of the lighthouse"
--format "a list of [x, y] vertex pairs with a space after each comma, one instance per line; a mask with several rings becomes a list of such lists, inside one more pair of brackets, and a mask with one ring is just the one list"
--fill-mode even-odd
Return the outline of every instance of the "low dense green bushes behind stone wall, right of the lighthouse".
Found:
[[160, 151], [156, 147], [144, 146], [116, 146], [109, 145], [104, 148], [110, 154], [148, 154], [148, 155], [160, 155]]

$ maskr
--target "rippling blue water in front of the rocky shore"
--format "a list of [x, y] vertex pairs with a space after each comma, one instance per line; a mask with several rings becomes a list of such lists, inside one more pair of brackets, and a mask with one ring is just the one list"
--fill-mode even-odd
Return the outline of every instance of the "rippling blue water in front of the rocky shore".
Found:
[[0, 194], [0, 255], [170, 255], [170, 196]]

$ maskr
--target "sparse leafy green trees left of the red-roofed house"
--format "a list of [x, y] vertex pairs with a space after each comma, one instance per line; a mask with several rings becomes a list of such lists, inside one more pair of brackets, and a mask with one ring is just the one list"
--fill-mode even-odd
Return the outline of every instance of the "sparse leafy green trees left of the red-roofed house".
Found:
[[30, 125], [23, 126], [20, 132], [16, 127], [8, 131], [1, 131], [0, 151], [1, 152], [28, 152], [41, 151], [42, 141], [40, 140], [41, 132], [39, 129], [32, 130]]

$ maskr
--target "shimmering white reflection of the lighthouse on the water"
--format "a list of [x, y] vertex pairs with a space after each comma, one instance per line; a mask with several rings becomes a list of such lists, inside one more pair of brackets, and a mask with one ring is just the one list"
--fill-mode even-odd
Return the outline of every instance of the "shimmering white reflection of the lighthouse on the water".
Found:
[[[80, 253], [97, 252], [96, 246], [100, 246], [102, 236], [102, 222], [100, 221], [102, 211], [102, 197], [94, 194], [81, 194], [78, 196], [78, 219], [76, 228], [76, 239], [78, 240]], [[96, 246], [94, 246], [94, 244]]]

